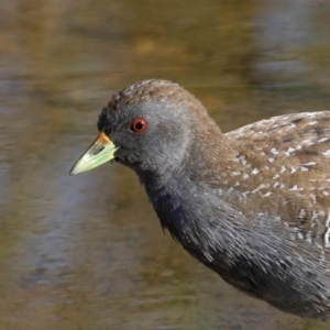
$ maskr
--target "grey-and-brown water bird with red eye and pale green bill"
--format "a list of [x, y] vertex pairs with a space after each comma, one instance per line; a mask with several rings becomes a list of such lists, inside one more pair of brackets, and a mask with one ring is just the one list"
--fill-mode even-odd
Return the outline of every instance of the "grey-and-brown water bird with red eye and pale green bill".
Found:
[[222, 133], [178, 84], [112, 96], [70, 175], [103, 163], [135, 172], [161, 226], [237, 289], [330, 321], [330, 111]]

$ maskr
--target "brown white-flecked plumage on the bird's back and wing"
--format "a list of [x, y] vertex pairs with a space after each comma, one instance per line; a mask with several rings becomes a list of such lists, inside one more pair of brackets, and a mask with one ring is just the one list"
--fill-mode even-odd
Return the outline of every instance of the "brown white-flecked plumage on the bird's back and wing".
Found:
[[275, 117], [224, 136], [238, 165], [222, 184], [242, 194], [239, 208], [277, 215], [292, 240], [312, 240], [329, 260], [330, 112]]

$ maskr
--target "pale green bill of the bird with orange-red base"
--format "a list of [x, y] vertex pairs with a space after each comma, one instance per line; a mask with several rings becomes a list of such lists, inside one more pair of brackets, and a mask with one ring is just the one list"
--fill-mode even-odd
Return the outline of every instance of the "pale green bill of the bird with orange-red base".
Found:
[[70, 175], [90, 170], [114, 158], [118, 147], [103, 133], [100, 132], [86, 153], [76, 162]]

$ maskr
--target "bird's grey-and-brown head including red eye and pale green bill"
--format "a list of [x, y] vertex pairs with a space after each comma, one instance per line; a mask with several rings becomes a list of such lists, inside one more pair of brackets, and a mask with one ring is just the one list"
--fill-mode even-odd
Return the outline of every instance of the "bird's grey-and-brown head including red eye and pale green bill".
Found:
[[166, 80], [144, 80], [114, 95], [98, 120], [99, 134], [70, 174], [119, 162], [138, 174], [163, 175], [182, 165], [198, 146], [209, 121], [202, 105]]

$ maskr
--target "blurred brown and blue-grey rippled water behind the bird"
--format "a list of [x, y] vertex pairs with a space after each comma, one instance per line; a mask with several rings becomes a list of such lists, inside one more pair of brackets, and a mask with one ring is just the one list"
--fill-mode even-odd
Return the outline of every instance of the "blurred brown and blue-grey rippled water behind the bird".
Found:
[[120, 165], [69, 177], [113, 92], [185, 86], [222, 131], [329, 109], [330, 1], [0, 4], [0, 329], [329, 329], [193, 260]]

